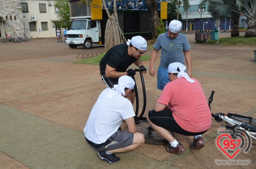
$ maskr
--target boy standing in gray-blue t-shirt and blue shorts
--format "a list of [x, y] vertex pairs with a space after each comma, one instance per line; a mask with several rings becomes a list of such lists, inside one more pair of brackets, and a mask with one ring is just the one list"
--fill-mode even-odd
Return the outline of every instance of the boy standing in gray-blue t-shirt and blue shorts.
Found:
[[[179, 62], [185, 65], [184, 56], [187, 63], [187, 74], [192, 76], [190, 46], [187, 36], [179, 34], [182, 24], [178, 20], [172, 20], [168, 27], [168, 32], [158, 36], [154, 44], [154, 49], [150, 57], [149, 73], [155, 76], [154, 62], [158, 51], [161, 49], [161, 59], [157, 71], [157, 88], [163, 90], [165, 84], [169, 82], [168, 65], [170, 63]], [[184, 53], [184, 56], [183, 56]]]

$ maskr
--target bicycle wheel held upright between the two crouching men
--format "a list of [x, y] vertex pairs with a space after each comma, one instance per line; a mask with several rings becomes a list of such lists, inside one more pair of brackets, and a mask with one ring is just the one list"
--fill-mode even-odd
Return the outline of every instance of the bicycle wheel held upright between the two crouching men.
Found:
[[166, 145], [169, 142], [159, 135], [150, 125], [149, 122], [145, 119], [135, 122], [137, 127], [137, 132], [144, 134], [145, 142], [154, 144], [154, 145]]

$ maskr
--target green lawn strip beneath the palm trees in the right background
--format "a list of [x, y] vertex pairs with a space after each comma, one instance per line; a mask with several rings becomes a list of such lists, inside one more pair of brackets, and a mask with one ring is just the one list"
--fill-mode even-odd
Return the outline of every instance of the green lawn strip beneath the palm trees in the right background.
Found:
[[[208, 44], [215, 45], [218, 40], [208, 40]], [[195, 42], [196, 43], [196, 42]], [[256, 37], [254, 38], [245, 38], [245, 36], [239, 37], [229, 37], [229, 38], [219, 38], [219, 44], [221, 45], [248, 45], [255, 46], [256, 45]]]

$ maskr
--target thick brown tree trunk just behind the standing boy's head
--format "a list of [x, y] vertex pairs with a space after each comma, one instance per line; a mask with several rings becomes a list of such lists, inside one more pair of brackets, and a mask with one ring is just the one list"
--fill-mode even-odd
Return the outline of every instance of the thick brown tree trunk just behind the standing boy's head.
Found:
[[157, 3], [155, 0], [145, 0], [151, 21], [153, 39], [157, 39], [157, 26], [160, 26]]

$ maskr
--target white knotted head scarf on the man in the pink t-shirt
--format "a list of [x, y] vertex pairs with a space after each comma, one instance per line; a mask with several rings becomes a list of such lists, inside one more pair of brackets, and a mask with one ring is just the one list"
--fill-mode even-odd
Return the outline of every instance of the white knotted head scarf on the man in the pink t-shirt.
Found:
[[[180, 72], [177, 71], [178, 68]], [[184, 66], [179, 62], [171, 63], [168, 66], [168, 73], [178, 73], [178, 76], [177, 76], [178, 78], [185, 77], [187, 81], [189, 81], [190, 83], [194, 83], [195, 81], [189, 78], [189, 75], [185, 73], [185, 70], [186, 70], [186, 66]]]

